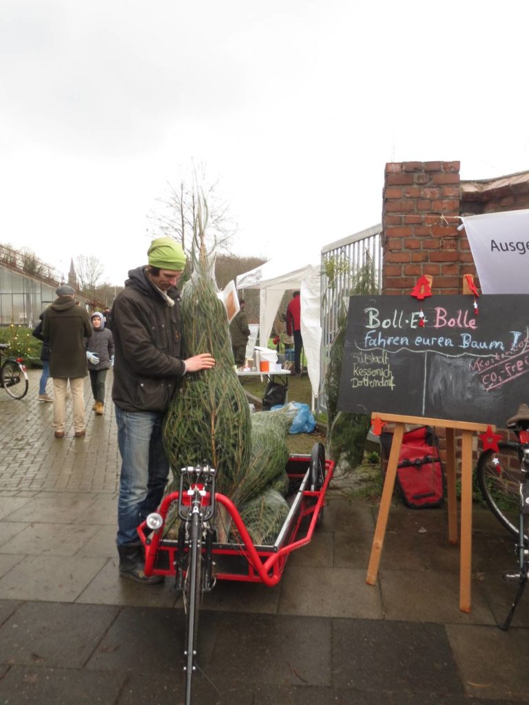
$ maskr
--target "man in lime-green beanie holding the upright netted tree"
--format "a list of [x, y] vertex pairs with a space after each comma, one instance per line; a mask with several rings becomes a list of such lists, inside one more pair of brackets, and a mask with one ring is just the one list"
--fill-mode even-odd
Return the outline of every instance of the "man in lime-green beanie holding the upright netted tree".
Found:
[[181, 360], [178, 281], [186, 255], [172, 238], [153, 240], [147, 266], [128, 273], [111, 311], [114, 334], [114, 385], [121, 477], [118, 498], [119, 574], [145, 584], [142, 544], [136, 529], [158, 508], [169, 461], [162, 446], [162, 420], [176, 379], [214, 367], [209, 353]]

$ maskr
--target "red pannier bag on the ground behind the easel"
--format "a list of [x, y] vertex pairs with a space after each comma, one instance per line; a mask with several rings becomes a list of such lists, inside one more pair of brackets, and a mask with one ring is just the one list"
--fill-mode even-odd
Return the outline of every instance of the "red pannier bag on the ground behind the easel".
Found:
[[[380, 434], [382, 467], [385, 474], [393, 434]], [[439, 439], [432, 427], [421, 426], [403, 434], [396, 486], [402, 501], [412, 509], [439, 507], [444, 500], [444, 472]]]

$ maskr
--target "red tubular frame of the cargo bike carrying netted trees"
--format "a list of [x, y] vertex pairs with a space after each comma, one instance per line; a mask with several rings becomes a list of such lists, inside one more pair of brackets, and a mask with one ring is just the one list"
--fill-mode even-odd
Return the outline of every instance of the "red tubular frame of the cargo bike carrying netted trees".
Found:
[[[268, 585], [269, 587], [274, 587], [274, 585], [276, 585], [279, 580], [281, 580], [282, 571], [278, 570], [277, 565], [279, 561], [282, 560], [282, 563], [284, 565], [288, 554], [290, 554], [292, 551], [296, 551], [296, 549], [300, 548], [301, 546], [305, 546], [305, 544], [308, 544], [312, 539], [312, 534], [314, 533], [314, 529], [316, 527], [317, 518], [320, 515], [320, 511], [324, 506], [325, 493], [327, 492], [327, 487], [329, 486], [329, 482], [332, 479], [332, 474], [334, 472], [334, 462], [332, 460], [326, 460], [325, 469], [325, 479], [320, 489], [316, 491], [303, 490], [303, 497], [317, 497], [317, 502], [315, 503], [315, 505], [312, 505], [312, 507], [308, 508], [308, 510], [305, 510], [304, 513], [304, 515], [312, 513], [312, 519], [310, 520], [310, 525], [308, 527], [307, 533], [305, 534], [303, 539], [292, 541], [292, 543], [287, 544], [282, 548], [279, 548], [278, 551], [274, 551], [274, 553], [272, 553], [271, 555], [268, 555], [269, 551], [267, 551], [268, 557], [264, 561], [262, 560], [259, 551], [257, 551], [257, 548], [255, 548], [255, 544], [253, 543], [250, 534], [248, 534], [248, 530], [246, 529], [236, 506], [224, 494], [220, 494], [219, 492], [215, 493], [215, 500], [221, 503], [224, 508], [226, 508], [229, 515], [231, 516], [231, 519], [233, 520], [234, 525], [236, 526], [239, 536], [241, 537], [245, 550], [245, 558], [248, 560], [248, 563], [252, 566], [258, 576], [258, 580], [256, 580], [255, 582], [260, 581], [265, 583], [265, 585]], [[162, 503], [159, 506], [158, 513], [162, 516], [162, 519], [164, 520], [164, 525], [167, 513], [169, 511], [169, 506], [175, 501], [178, 501], [178, 492], [171, 492], [171, 494], [168, 494], [164, 497]], [[160, 539], [162, 538], [161, 534], [163, 530], [163, 525], [160, 529], [157, 529], [156, 532], [153, 532], [151, 534], [150, 539], [148, 541], [145, 537], [144, 529], [145, 522], [143, 522], [142, 525], [138, 527], [138, 534], [140, 536], [140, 539], [142, 540], [142, 543], [145, 546], [145, 575], [149, 576], [153, 573], [171, 575], [171, 572], [168, 573], [167, 570], [156, 570], [154, 568], [154, 562], [157, 558], [157, 553], [159, 551]], [[297, 529], [298, 527], [296, 527], [296, 531], [294, 532], [295, 534], [297, 533]], [[222, 576], [219, 575], [218, 577], [220, 578]], [[245, 581], [255, 580], [255, 578], [253, 579], [252, 577], [248, 576], [233, 576], [232, 579]]]

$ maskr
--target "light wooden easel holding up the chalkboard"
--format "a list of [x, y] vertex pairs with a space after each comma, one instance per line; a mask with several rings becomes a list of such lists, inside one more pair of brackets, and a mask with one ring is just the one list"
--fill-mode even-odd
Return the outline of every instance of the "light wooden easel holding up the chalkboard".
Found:
[[382, 414], [374, 412], [372, 422], [381, 419], [384, 422], [394, 422], [395, 431], [389, 462], [384, 479], [382, 500], [375, 527], [375, 537], [371, 548], [369, 566], [365, 582], [374, 585], [377, 582], [378, 568], [384, 546], [391, 497], [395, 486], [396, 470], [399, 463], [399, 453], [402, 445], [404, 424], [427, 424], [428, 426], [444, 427], [446, 429], [446, 490], [448, 496], [448, 540], [450, 544], [458, 543], [457, 501], [456, 501], [456, 443], [455, 432], [461, 431], [461, 546], [459, 571], [459, 609], [470, 612], [470, 570], [472, 567], [472, 434], [474, 431], [487, 431], [488, 424], [474, 424], [464, 421], [447, 421], [446, 419], [427, 419], [418, 416], [402, 416], [399, 414]]

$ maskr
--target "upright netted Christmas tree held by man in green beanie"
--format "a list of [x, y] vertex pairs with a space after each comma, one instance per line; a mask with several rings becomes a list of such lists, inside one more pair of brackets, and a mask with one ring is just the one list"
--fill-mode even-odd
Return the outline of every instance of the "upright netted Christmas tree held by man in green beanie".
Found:
[[164, 444], [174, 471], [209, 462], [217, 489], [230, 496], [250, 459], [250, 408], [233, 367], [224, 305], [205, 252], [194, 263], [181, 300], [183, 355], [211, 353], [215, 367], [186, 374], [164, 422]]

